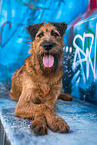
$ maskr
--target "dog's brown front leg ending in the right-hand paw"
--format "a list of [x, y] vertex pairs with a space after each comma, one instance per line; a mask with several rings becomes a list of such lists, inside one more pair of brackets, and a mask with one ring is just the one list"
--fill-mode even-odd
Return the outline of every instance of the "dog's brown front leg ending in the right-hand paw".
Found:
[[46, 96], [47, 100], [45, 104], [50, 110], [46, 112], [45, 117], [47, 125], [52, 131], [66, 133], [69, 131], [68, 124], [60, 116], [58, 116], [53, 109], [55, 107], [55, 104], [57, 103], [57, 95], [60, 93], [61, 90], [60, 86], [59, 89], [57, 88], [58, 86], [54, 86], [52, 88], [52, 91], [48, 94], [48, 96]]

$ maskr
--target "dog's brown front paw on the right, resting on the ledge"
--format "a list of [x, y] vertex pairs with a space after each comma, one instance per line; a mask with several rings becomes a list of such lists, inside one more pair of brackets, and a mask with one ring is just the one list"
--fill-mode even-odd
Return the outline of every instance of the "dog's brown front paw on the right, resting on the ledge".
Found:
[[49, 126], [49, 128], [58, 133], [67, 133], [70, 129], [68, 124], [59, 116], [54, 119], [54, 122]]

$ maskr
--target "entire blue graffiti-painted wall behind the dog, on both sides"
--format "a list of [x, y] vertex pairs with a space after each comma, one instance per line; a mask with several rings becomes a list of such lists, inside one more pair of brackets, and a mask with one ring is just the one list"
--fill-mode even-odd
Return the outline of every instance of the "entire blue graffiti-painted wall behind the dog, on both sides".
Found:
[[[74, 97], [97, 100], [97, 10], [89, 0], [1, 0], [0, 81], [11, 80], [29, 55], [26, 27], [41, 22], [66, 22], [63, 88]], [[86, 12], [86, 13], [85, 13]]]

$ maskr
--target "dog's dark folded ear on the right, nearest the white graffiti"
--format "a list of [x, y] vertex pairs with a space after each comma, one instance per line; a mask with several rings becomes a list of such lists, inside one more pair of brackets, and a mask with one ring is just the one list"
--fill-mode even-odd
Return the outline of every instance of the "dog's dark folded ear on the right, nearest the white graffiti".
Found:
[[51, 23], [51, 24], [53, 24], [56, 27], [56, 29], [58, 30], [58, 32], [60, 33], [60, 35], [62, 37], [64, 35], [66, 28], [67, 28], [67, 24], [61, 23], [61, 22], [60, 23]]

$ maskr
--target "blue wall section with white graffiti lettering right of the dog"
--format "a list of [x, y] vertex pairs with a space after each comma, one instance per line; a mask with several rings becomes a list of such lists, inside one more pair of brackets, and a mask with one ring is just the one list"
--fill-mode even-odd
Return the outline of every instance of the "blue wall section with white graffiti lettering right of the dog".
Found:
[[95, 102], [97, 100], [97, 9], [86, 12], [80, 21], [78, 18], [78, 22], [74, 21], [69, 25], [65, 42], [64, 90], [80, 99]]

